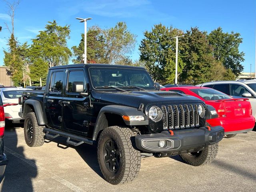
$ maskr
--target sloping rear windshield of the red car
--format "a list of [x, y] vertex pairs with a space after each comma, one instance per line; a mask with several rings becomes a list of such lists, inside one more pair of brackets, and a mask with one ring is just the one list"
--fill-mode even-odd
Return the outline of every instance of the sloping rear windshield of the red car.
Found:
[[215, 89], [191, 89], [191, 91], [202, 97], [204, 100], [220, 100], [232, 98]]

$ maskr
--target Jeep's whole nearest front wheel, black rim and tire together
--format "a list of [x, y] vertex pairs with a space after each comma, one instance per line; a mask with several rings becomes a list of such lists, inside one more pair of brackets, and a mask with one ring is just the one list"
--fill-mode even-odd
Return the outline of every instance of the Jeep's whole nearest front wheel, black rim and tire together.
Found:
[[98, 140], [97, 156], [104, 179], [111, 184], [132, 181], [140, 171], [140, 151], [129, 128], [105, 128]]

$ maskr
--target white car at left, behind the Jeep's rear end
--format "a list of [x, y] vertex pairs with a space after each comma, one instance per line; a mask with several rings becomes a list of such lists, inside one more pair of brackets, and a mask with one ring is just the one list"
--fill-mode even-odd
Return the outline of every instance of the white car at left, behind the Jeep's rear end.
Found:
[[4, 116], [7, 121], [12, 123], [21, 123], [22, 118], [18, 115], [21, 105], [19, 105], [19, 97], [22, 96], [24, 90], [31, 90], [26, 88], [0, 88], [0, 95], [4, 106]]

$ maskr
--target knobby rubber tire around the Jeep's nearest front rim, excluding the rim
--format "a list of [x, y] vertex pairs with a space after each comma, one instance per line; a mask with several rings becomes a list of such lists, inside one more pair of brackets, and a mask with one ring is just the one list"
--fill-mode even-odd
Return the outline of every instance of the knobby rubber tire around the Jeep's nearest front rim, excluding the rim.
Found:
[[[103, 178], [110, 184], [130, 182], [140, 171], [140, 151], [134, 148], [136, 134], [129, 128], [111, 126], [105, 128], [99, 137], [97, 156]], [[116, 172], [108, 170], [104, 159], [104, 146], [109, 140], [114, 140], [120, 154], [120, 164]]]

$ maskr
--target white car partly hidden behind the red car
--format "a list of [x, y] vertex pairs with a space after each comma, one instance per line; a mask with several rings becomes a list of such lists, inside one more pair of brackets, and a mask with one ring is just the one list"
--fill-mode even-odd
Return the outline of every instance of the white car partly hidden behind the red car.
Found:
[[256, 81], [215, 81], [196, 86], [210, 87], [226, 93], [233, 98], [248, 98], [252, 106], [252, 114], [256, 118]]

